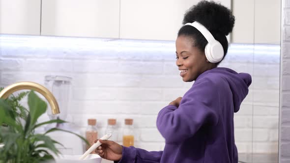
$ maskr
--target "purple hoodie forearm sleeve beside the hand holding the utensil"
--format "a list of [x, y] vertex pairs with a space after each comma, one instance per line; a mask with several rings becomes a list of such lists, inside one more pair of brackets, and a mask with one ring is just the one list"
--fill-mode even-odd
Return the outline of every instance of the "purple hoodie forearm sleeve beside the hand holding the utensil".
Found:
[[122, 158], [119, 162], [115, 163], [160, 163], [162, 153], [163, 151], [148, 152], [133, 146], [123, 146]]

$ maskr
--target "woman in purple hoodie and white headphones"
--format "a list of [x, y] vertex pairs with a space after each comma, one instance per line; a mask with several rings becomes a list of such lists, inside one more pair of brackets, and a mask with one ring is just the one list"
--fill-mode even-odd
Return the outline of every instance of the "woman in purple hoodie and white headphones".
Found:
[[184, 94], [160, 110], [157, 128], [163, 151], [123, 147], [114, 141], [95, 152], [118, 163], [237, 163], [233, 113], [248, 94], [251, 76], [217, 65], [228, 51], [232, 12], [214, 1], [201, 1], [183, 19], [175, 42], [182, 80], [195, 81]]

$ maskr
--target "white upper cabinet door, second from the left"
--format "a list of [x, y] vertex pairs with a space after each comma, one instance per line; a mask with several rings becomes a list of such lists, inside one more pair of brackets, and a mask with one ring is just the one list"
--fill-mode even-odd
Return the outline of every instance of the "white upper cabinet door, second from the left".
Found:
[[41, 35], [119, 36], [119, 0], [42, 0]]

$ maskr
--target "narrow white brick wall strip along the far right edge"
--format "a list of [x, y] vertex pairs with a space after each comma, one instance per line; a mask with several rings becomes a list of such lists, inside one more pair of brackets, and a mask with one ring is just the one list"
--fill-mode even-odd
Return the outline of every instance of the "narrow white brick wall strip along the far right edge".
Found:
[[290, 0], [282, 0], [279, 163], [290, 162]]

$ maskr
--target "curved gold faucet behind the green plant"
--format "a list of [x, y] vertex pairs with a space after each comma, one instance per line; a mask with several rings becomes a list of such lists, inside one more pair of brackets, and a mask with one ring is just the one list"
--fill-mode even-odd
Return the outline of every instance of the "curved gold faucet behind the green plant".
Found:
[[13, 92], [22, 89], [32, 89], [40, 94], [42, 94], [50, 104], [53, 114], [59, 113], [58, 102], [55, 96], [44, 86], [30, 81], [16, 82], [14, 84], [8, 85], [0, 92], [0, 98], [8, 98]]

